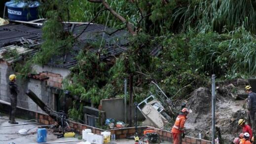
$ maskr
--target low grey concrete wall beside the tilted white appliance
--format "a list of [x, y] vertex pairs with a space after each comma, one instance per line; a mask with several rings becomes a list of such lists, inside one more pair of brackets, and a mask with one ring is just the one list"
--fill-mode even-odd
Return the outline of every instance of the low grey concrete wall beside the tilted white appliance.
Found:
[[[107, 99], [101, 100], [102, 110], [106, 112], [106, 118], [114, 118], [116, 120], [124, 121], [124, 99]], [[127, 123], [129, 122], [129, 105], [126, 105]], [[137, 109], [138, 120], [144, 120], [145, 117], [141, 111]], [[133, 108], [133, 118], [135, 115], [135, 108]]]

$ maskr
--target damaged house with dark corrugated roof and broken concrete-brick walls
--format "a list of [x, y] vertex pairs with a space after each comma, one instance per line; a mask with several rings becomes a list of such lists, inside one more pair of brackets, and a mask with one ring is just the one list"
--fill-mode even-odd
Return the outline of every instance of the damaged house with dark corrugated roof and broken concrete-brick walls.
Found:
[[[42, 25], [44, 21], [34, 21], [33, 24], [10, 23], [0, 26], [0, 103], [9, 103], [8, 76], [14, 72], [17, 63], [24, 63], [24, 58], [32, 57], [40, 50], [42, 39]], [[79, 35], [88, 24], [65, 24], [65, 30], [70, 30], [73, 35]], [[111, 35], [104, 33], [112, 33]], [[117, 56], [127, 49], [128, 32], [116, 31], [104, 25], [89, 24], [88, 28], [73, 44], [72, 52], [51, 58], [48, 64], [33, 66], [33, 73], [27, 78], [18, 80], [20, 90], [17, 106], [28, 110], [43, 112], [28, 96], [26, 91], [31, 89], [45, 104], [52, 109], [62, 109], [60, 95], [62, 81], [71, 73], [71, 68], [77, 64], [76, 56], [87, 43], [100, 40], [105, 41], [104, 50], [100, 59], [108, 61], [110, 57]], [[91, 53], [96, 53], [99, 48], [90, 48]], [[11, 52], [15, 51], [16, 54]], [[68, 102], [67, 102], [68, 103]]]

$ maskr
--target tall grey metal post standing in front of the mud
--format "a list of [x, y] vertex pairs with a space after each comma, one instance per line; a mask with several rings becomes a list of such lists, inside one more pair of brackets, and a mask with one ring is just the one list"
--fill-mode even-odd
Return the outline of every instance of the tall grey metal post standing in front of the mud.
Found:
[[215, 74], [212, 75], [212, 144], [215, 144]]

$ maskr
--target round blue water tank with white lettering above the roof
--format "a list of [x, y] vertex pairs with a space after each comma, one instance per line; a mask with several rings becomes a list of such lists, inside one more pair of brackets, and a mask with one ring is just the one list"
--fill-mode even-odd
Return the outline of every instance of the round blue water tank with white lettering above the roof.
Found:
[[38, 1], [27, 3], [11, 0], [5, 2], [5, 6], [7, 7], [8, 17], [10, 20], [32, 21], [37, 19], [37, 7], [39, 6]]

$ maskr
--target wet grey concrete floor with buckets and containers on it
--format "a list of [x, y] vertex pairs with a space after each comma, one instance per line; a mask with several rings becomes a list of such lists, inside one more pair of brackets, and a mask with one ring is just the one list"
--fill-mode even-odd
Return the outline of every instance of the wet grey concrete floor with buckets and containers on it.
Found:
[[[30, 129], [35, 126], [40, 126], [38, 123], [32, 123], [33, 121], [28, 121], [24, 119], [16, 119], [19, 124], [30, 123], [26, 125], [12, 125], [8, 123], [8, 116], [0, 113], [0, 144], [37, 144], [37, 128], [29, 131], [27, 135], [19, 134], [20, 129]], [[67, 141], [79, 141], [79, 135], [74, 138], [59, 138], [53, 135], [51, 132], [47, 132], [47, 144], [82, 144], [81, 142], [67, 142]], [[80, 136], [81, 137], [81, 136]], [[63, 142], [67, 143], [63, 143]], [[40, 143], [44, 144], [44, 143]], [[111, 144], [134, 144], [134, 140], [121, 139], [116, 140]], [[146, 143], [145, 143], [146, 144]], [[170, 144], [168, 142], [162, 142], [161, 144]]]

